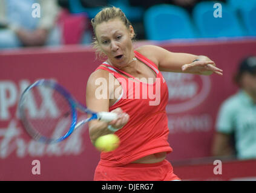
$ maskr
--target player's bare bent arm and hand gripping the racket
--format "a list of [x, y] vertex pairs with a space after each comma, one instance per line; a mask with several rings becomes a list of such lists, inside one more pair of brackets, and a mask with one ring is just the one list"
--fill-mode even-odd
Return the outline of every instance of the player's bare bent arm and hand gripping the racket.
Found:
[[[86, 103], [87, 107], [95, 112], [108, 112], [109, 111], [109, 105], [110, 105], [110, 98], [109, 92], [113, 92], [113, 90], [108, 90], [108, 72], [106, 71], [96, 71], [93, 72], [93, 74], [90, 75], [88, 82], [87, 82], [87, 94], [86, 94]], [[100, 82], [99, 80], [105, 81], [107, 84], [100, 84], [97, 85]], [[99, 87], [101, 86], [101, 90], [107, 89], [107, 96], [106, 97], [99, 97]], [[98, 90], [97, 90], [98, 89]], [[103, 96], [103, 95], [102, 95]], [[123, 127], [123, 125], [128, 122], [129, 116], [126, 113], [123, 113], [122, 109], [117, 108], [113, 110], [112, 112], [117, 113], [118, 117], [116, 120], [111, 122], [103, 122], [103, 121], [97, 121], [93, 120], [89, 122], [89, 133], [90, 133], [90, 139], [91, 142], [94, 144], [97, 138], [99, 138], [102, 135], [114, 133], [113, 131], [108, 130], [108, 125], [113, 125], [115, 128]]]

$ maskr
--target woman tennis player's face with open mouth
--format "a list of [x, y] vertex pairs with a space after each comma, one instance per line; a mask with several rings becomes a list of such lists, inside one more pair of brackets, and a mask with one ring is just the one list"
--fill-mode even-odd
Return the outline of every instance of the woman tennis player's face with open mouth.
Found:
[[126, 66], [134, 57], [133, 27], [127, 29], [120, 19], [112, 19], [96, 26], [96, 37], [100, 49], [107, 55], [112, 65], [118, 68]]

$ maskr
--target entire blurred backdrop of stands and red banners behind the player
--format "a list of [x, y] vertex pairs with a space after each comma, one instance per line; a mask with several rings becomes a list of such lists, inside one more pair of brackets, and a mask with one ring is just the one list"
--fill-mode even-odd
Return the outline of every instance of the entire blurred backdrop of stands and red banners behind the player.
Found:
[[[256, 0], [0, 0], [0, 180], [93, 180], [100, 154], [86, 127], [61, 144], [38, 144], [16, 109], [39, 78], [59, 81], [85, 103], [87, 79], [102, 62], [90, 21], [110, 5], [133, 25], [135, 48], [207, 55], [223, 69], [223, 77], [163, 72], [174, 149], [166, 159], [174, 173], [183, 180], [256, 180]], [[31, 174], [36, 159], [40, 175]], [[215, 160], [222, 173], [214, 173]]]

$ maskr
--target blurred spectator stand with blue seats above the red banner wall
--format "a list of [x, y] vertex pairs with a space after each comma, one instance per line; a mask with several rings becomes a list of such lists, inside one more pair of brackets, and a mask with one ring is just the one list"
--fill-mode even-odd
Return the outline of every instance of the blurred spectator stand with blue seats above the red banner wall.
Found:
[[91, 19], [110, 5], [123, 10], [136, 30], [137, 40], [256, 35], [254, 0], [47, 0], [38, 1], [38, 12], [36, 5], [31, 7], [36, 1], [0, 2], [1, 49], [90, 44]]

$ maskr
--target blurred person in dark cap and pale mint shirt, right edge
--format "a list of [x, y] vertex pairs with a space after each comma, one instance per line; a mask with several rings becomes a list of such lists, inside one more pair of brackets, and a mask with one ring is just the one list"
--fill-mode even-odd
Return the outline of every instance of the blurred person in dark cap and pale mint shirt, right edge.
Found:
[[240, 90], [220, 108], [212, 154], [232, 156], [237, 153], [238, 159], [256, 159], [256, 56], [241, 62], [235, 82]]

